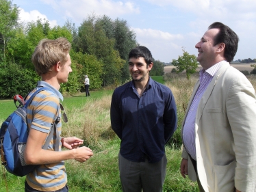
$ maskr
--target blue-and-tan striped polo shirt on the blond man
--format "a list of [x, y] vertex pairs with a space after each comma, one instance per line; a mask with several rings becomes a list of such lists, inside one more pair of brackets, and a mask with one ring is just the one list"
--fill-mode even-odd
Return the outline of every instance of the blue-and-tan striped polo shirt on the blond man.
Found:
[[[53, 92], [42, 91], [36, 94], [27, 109], [27, 124], [30, 128], [49, 134], [51, 124], [57, 116], [61, 117], [60, 99], [63, 100], [62, 94], [55, 90], [54, 87], [44, 81], [38, 81], [38, 87], [32, 91], [27, 99], [39, 87], [49, 87]], [[57, 124], [57, 131], [61, 134], [62, 122]], [[54, 150], [56, 135], [53, 135], [47, 150]], [[60, 142], [59, 151], [62, 143]], [[67, 182], [66, 169], [64, 161], [51, 163], [47, 165], [38, 165], [36, 169], [26, 176], [27, 184], [38, 191], [56, 191], [65, 187]]]

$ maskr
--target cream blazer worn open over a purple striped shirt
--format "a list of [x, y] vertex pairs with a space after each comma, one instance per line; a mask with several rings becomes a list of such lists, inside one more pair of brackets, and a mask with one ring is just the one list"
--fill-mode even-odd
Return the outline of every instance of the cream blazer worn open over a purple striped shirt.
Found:
[[[199, 84], [194, 86], [185, 117]], [[255, 90], [229, 63], [216, 72], [199, 102], [195, 139], [196, 164], [205, 192], [256, 191]], [[182, 157], [189, 159], [185, 148]], [[190, 159], [188, 176], [196, 180]]]

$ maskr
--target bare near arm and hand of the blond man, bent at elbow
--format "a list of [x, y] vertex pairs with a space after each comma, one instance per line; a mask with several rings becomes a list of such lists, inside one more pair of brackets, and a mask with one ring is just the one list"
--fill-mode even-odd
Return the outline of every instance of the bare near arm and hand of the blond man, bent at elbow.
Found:
[[66, 159], [75, 159], [79, 162], [84, 162], [93, 155], [90, 148], [81, 147], [73, 150], [51, 151], [43, 150], [42, 145], [47, 137], [47, 133], [31, 128], [29, 137], [27, 139], [27, 146], [25, 148], [25, 162], [34, 165], [42, 165], [48, 163], [57, 163]]

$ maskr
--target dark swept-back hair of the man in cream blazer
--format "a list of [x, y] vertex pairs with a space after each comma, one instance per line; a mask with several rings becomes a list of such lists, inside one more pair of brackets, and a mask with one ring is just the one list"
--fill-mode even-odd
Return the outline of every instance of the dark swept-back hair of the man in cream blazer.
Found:
[[214, 38], [214, 46], [223, 42], [225, 44], [224, 57], [228, 62], [233, 61], [236, 51], [238, 51], [238, 35], [227, 25], [220, 22], [212, 23], [208, 29], [220, 29]]

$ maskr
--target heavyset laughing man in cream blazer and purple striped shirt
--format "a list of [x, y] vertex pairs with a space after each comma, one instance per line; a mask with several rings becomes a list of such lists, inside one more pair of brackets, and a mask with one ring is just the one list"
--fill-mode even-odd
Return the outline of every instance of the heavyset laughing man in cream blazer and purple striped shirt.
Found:
[[238, 40], [216, 22], [196, 44], [203, 70], [181, 128], [181, 175], [197, 179], [200, 191], [256, 191], [255, 90], [229, 65]]

